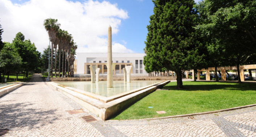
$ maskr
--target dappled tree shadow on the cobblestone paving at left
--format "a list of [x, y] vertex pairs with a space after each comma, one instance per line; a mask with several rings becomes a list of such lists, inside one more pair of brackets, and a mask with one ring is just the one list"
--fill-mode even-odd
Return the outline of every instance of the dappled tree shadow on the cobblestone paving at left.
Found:
[[40, 128], [58, 120], [61, 115], [56, 115], [56, 110], [44, 111], [33, 109], [32, 103], [0, 103], [0, 128], [13, 129], [16, 127], [27, 127], [28, 129]]

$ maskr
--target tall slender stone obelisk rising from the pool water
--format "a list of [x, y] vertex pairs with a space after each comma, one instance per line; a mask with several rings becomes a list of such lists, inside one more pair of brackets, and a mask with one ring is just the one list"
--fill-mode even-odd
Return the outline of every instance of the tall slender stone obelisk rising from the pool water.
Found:
[[107, 87], [113, 87], [113, 70], [112, 70], [112, 29], [111, 29], [111, 26], [108, 27]]

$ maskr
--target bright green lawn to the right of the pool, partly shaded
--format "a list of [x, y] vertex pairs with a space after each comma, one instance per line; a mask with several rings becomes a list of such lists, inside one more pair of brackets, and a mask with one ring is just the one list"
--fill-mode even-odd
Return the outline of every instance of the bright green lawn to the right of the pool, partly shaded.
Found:
[[[185, 89], [177, 90], [170, 82], [121, 112], [114, 120], [144, 119], [207, 112], [256, 103], [255, 83], [185, 81]], [[148, 108], [153, 107], [153, 108]], [[166, 114], [157, 114], [165, 111]]]

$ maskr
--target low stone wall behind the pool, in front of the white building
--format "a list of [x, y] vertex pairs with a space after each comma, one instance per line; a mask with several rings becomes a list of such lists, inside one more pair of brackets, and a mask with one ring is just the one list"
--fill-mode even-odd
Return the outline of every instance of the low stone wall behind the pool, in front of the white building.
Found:
[[[113, 77], [114, 81], [122, 81], [124, 77]], [[163, 77], [131, 77], [131, 80], [176, 80], [176, 76]], [[72, 77], [72, 78], [50, 78], [49, 81], [91, 81], [91, 77]], [[99, 77], [99, 81], [107, 81], [107, 77]]]

